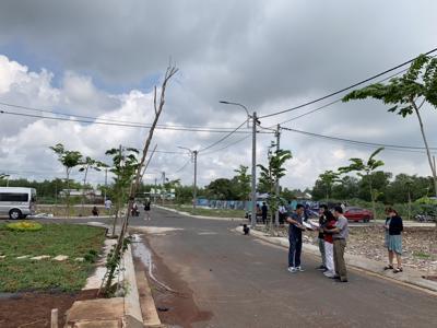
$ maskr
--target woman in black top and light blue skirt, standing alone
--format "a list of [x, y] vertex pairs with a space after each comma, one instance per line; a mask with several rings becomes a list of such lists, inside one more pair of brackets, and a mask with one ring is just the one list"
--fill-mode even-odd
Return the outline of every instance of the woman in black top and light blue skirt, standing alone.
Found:
[[[389, 251], [389, 265], [386, 266], [385, 270], [393, 270], [394, 273], [402, 272], [402, 231], [403, 223], [402, 218], [399, 216], [398, 212], [392, 209], [386, 209], [387, 219], [386, 219], [386, 247]], [[393, 257], [397, 257], [398, 267], [393, 268]]]

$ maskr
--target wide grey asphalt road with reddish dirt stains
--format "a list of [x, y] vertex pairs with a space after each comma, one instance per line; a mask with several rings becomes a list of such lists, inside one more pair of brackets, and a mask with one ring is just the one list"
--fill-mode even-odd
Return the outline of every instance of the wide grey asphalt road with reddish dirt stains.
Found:
[[[285, 249], [235, 234], [237, 222], [154, 210], [152, 221], [132, 225], [180, 229], [146, 238], [211, 314], [192, 327], [437, 327], [437, 297], [355, 271], [349, 283], [335, 282], [306, 255], [306, 272], [290, 273]], [[174, 281], [160, 270], [158, 279]]]

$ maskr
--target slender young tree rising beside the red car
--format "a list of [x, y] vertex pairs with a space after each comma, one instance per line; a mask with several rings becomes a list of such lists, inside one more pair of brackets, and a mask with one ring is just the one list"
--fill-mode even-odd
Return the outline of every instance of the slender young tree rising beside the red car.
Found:
[[375, 156], [382, 150], [383, 148], [378, 148], [376, 151], [371, 153], [370, 157], [366, 162], [362, 159], [350, 159], [350, 162], [352, 162], [351, 165], [339, 167], [340, 173], [357, 172], [358, 176], [366, 177], [366, 179], [369, 183], [371, 208], [374, 210], [375, 220], [376, 220], [375, 198], [378, 195], [378, 190], [373, 189], [371, 173], [378, 167], [383, 165], [382, 161], [375, 160]]

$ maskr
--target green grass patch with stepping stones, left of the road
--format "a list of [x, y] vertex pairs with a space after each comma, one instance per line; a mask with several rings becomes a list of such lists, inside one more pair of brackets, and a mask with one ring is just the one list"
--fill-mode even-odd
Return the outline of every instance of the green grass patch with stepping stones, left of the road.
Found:
[[[94, 268], [90, 261], [74, 261], [90, 251], [99, 253], [105, 231], [74, 224], [44, 224], [36, 232], [12, 232], [0, 225], [0, 292], [79, 291]], [[64, 261], [16, 259], [29, 255], [67, 255]]]

